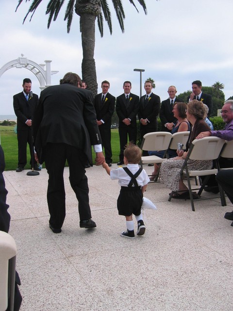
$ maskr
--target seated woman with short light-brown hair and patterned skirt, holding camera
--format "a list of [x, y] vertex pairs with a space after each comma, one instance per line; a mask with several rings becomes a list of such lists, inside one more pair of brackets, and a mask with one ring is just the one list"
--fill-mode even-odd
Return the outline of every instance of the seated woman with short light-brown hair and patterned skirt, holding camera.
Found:
[[[204, 114], [205, 108], [201, 102], [197, 100], [189, 102], [186, 115], [188, 121], [192, 124], [192, 130], [186, 143], [186, 151], [177, 150], [177, 157], [165, 160], [161, 164], [159, 173], [160, 180], [167, 188], [174, 191], [172, 196], [174, 199], [189, 199], [188, 188], [184, 185], [181, 178], [181, 168], [192, 141], [200, 132], [209, 131], [209, 126], [203, 121]], [[189, 170], [210, 170], [212, 169], [213, 161], [188, 160], [187, 164]], [[195, 194], [196, 193], [194, 193], [193, 197], [198, 198], [199, 196]]]

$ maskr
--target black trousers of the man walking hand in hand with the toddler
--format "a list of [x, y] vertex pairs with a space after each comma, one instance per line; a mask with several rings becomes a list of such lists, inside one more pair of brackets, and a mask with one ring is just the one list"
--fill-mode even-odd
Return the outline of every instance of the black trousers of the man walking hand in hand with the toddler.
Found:
[[61, 228], [66, 217], [66, 193], [64, 187], [64, 167], [69, 165], [69, 182], [79, 202], [80, 220], [91, 218], [89, 188], [85, 175], [86, 155], [83, 151], [64, 144], [48, 143], [43, 148], [45, 166], [49, 174], [47, 201], [50, 211], [50, 224]]

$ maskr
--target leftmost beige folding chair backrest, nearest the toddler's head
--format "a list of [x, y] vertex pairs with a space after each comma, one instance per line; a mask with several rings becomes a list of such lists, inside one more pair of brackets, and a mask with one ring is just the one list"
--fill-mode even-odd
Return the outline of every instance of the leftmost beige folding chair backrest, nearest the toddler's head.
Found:
[[170, 144], [172, 135], [169, 132], [152, 132], [143, 136], [141, 149], [148, 150], [166, 150]]

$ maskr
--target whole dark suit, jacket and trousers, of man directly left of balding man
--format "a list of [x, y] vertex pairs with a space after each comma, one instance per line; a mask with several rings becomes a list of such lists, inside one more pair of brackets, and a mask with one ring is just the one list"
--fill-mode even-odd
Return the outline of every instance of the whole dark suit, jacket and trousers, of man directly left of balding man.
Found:
[[140, 123], [141, 139], [147, 133], [156, 132], [158, 130], [158, 120], [160, 109], [160, 97], [151, 93], [148, 102], [145, 102], [146, 95], [143, 95], [139, 101], [138, 119], [147, 119], [146, 125]]

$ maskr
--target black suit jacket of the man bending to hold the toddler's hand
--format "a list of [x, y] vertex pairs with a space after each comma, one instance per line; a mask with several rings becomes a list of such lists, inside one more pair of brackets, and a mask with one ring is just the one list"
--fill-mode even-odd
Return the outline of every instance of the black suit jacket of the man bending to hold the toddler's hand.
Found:
[[51, 142], [83, 150], [92, 164], [91, 145], [101, 144], [101, 138], [91, 91], [71, 84], [44, 89], [34, 116], [33, 131], [40, 163], [44, 160], [42, 147]]

